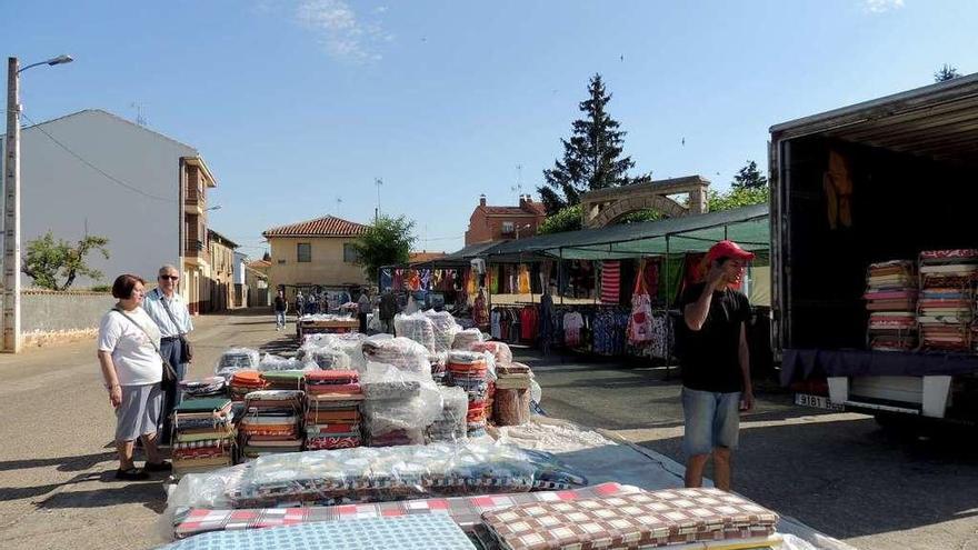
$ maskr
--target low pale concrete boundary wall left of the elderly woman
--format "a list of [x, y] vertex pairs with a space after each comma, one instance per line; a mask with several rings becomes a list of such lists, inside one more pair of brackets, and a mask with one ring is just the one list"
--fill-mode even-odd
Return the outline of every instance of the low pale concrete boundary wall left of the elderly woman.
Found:
[[20, 312], [24, 343], [93, 336], [116, 302], [108, 292], [24, 290]]

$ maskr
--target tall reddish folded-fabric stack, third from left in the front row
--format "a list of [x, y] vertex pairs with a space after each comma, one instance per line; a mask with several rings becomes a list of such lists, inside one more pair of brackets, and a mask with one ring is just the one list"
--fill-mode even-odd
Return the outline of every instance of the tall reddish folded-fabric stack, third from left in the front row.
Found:
[[306, 450], [360, 447], [362, 400], [355, 370], [306, 373]]

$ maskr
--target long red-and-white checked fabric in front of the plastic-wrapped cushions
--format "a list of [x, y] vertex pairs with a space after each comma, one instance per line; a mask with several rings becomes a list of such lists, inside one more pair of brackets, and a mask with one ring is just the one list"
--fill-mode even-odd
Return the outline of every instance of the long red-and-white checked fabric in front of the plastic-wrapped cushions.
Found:
[[640, 492], [641, 489], [619, 483], [600, 483], [566, 491], [515, 492], [479, 497], [416, 499], [399, 502], [375, 502], [350, 506], [305, 508], [258, 508], [247, 510], [209, 510], [184, 508], [173, 518], [173, 537], [186, 539], [200, 533], [297, 526], [320, 521], [352, 521], [365, 518], [399, 518], [402, 516], [448, 516], [469, 537], [481, 538], [482, 513], [533, 502], [570, 502], [580, 499], [613, 497]]

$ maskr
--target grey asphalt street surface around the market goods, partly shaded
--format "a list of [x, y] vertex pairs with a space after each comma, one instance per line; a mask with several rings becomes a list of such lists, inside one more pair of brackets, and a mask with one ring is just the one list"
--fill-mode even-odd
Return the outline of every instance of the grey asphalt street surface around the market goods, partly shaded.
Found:
[[[191, 376], [228, 347], [295, 349], [272, 317], [194, 318]], [[290, 328], [293, 324], [289, 324]], [[679, 384], [663, 369], [529, 350], [553, 417], [612, 430], [681, 461]], [[114, 417], [94, 342], [0, 354], [0, 548], [153, 548], [162, 478], [118, 482]], [[891, 434], [858, 414], [820, 413], [759, 391], [744, 419], [735, 489], [864, 550], [978, 549], [978, 450], [971, 432]]]

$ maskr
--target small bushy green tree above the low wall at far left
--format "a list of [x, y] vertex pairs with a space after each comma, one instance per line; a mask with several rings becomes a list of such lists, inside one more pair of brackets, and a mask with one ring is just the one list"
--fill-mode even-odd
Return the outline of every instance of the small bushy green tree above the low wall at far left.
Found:
[[[93, 280], [102, 278], [102, 272], [89, 267], [86, 258], [89, 253], [98, 251], [108, 260], [109, 250], [106, 248], [108, 244], [109, 239], [104, 237], [88, 236], [72, 247], [63, 239], [56, 242], [54, 236], [48, 231], [43, 237], [28, 242], [27, 254], [20, 270], [33, 279], [38, 287], [68, 290], [78, 276]], [[62, 279], [63, 282], [59, 282]]]

